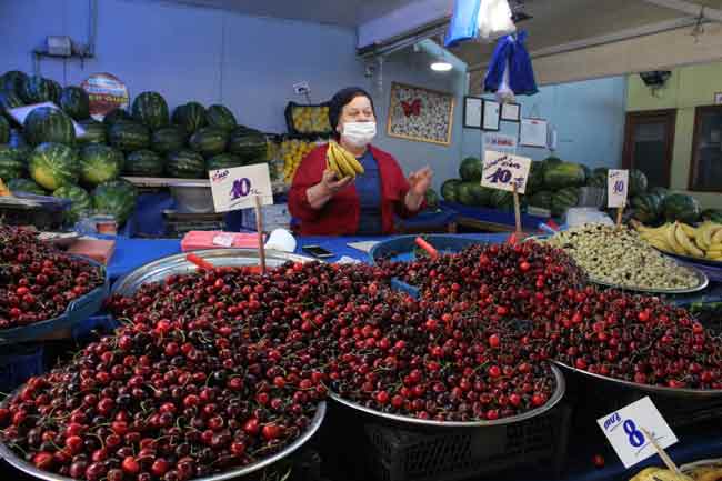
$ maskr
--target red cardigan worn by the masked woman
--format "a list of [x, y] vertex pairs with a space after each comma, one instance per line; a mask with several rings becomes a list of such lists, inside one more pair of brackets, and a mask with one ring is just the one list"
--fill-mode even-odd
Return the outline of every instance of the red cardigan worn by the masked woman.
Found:
[[[301, 236], [354, 236], [359, 230], [361, 208], [353, 182], [337, 192], [321, 209], [313, 209], [309, 204], [305, 191], [321, 181], [328, 149], [329, 146], [323, 144], [309, 152], [293, 178], [289, 193], [289, 210], [301, 221], [298, 229]], [[407, 209], [405, 197], [409, 182], [395, 159], [383, 150], [371, 146], [369, 149], [379, 164], [381, 231], [388, 234], [393, 232], [394, 214], [407, 218], [417, 212]]]

